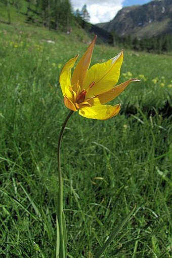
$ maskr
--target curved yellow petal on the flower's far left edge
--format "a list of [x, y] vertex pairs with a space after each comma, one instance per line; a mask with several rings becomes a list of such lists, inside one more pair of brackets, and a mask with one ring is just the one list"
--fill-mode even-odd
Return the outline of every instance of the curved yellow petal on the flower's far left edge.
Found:
[[63, 96], [64, 95], [70, 95], [69, 87], [71, 85], [71, 69], [73, 68], [76, 59], [78, 58], [78, 55], [71, 58], [62, 68], [62, 71], [60, 73], [59, 83], [60, 87], [62, 89]]

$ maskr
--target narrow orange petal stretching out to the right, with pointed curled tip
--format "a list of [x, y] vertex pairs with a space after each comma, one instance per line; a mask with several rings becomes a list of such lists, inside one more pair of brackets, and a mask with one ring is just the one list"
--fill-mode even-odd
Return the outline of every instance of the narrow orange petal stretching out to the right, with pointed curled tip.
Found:
[[98, 95], [97, 98], [99, 99], [101, 104], [107, 103], [107, 102], [111, 101], [112, 99], [116, 98], [131, 82], [140, 82], [140, 80], [138, 80], [138, 79], [128, 80], [124, 83], [121, 83], [121, 84], [115, 86], [111, 90]]

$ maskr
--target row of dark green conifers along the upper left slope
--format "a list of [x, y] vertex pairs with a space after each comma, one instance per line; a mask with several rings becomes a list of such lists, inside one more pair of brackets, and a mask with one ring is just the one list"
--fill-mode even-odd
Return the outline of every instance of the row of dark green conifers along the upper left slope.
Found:
[[74, 22], [89, 22], [87, 6], [72, 10], [70, 0], [1, 0], [7, 6], [8, 23], [11, 24], [11, 7], [20, 12], [25, 7], [26, 22], [43, 25], [49, 29], [70, 31]]

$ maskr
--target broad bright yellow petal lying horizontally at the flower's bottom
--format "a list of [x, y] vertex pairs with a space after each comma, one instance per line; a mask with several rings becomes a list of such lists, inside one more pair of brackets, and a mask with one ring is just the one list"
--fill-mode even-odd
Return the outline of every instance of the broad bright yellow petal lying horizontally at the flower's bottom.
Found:
[[120, 104], [111, 105], [98, 105], [92, 107], [83, 107], [79, 109], [79, 115], [85, 118], [106, 120], [116, 116], [119, 113]]

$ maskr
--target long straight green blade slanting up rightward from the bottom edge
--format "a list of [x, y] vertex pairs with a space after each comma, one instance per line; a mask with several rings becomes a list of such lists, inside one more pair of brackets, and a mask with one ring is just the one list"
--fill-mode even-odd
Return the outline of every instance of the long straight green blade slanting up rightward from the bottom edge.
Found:
[[128, 213], [128, 215], [122, 220], [121, 224], [119, 224], [119, 226], [112, 231], [112, 233], [110, 234], [108, 240], [103, 244], [103, 246], [98, 250], [98, 252], [96, 253], [94, 258], [100, 258], [101, 255], [104, 253], [104, 251], [107, 249], [107, 247], [110, 245], [110, 243], [112, 242], [112, 240], [117, 236], [117, 234], [121, 231], [121, 229], [123, 228], [123, 226], [128, 222], [128, 220], [130, 219], [130, 217], [132, 216], [133, 212], [136, 209], [136, 205], [134, 206], [134, 208], [131, 210], [130, 213]]

